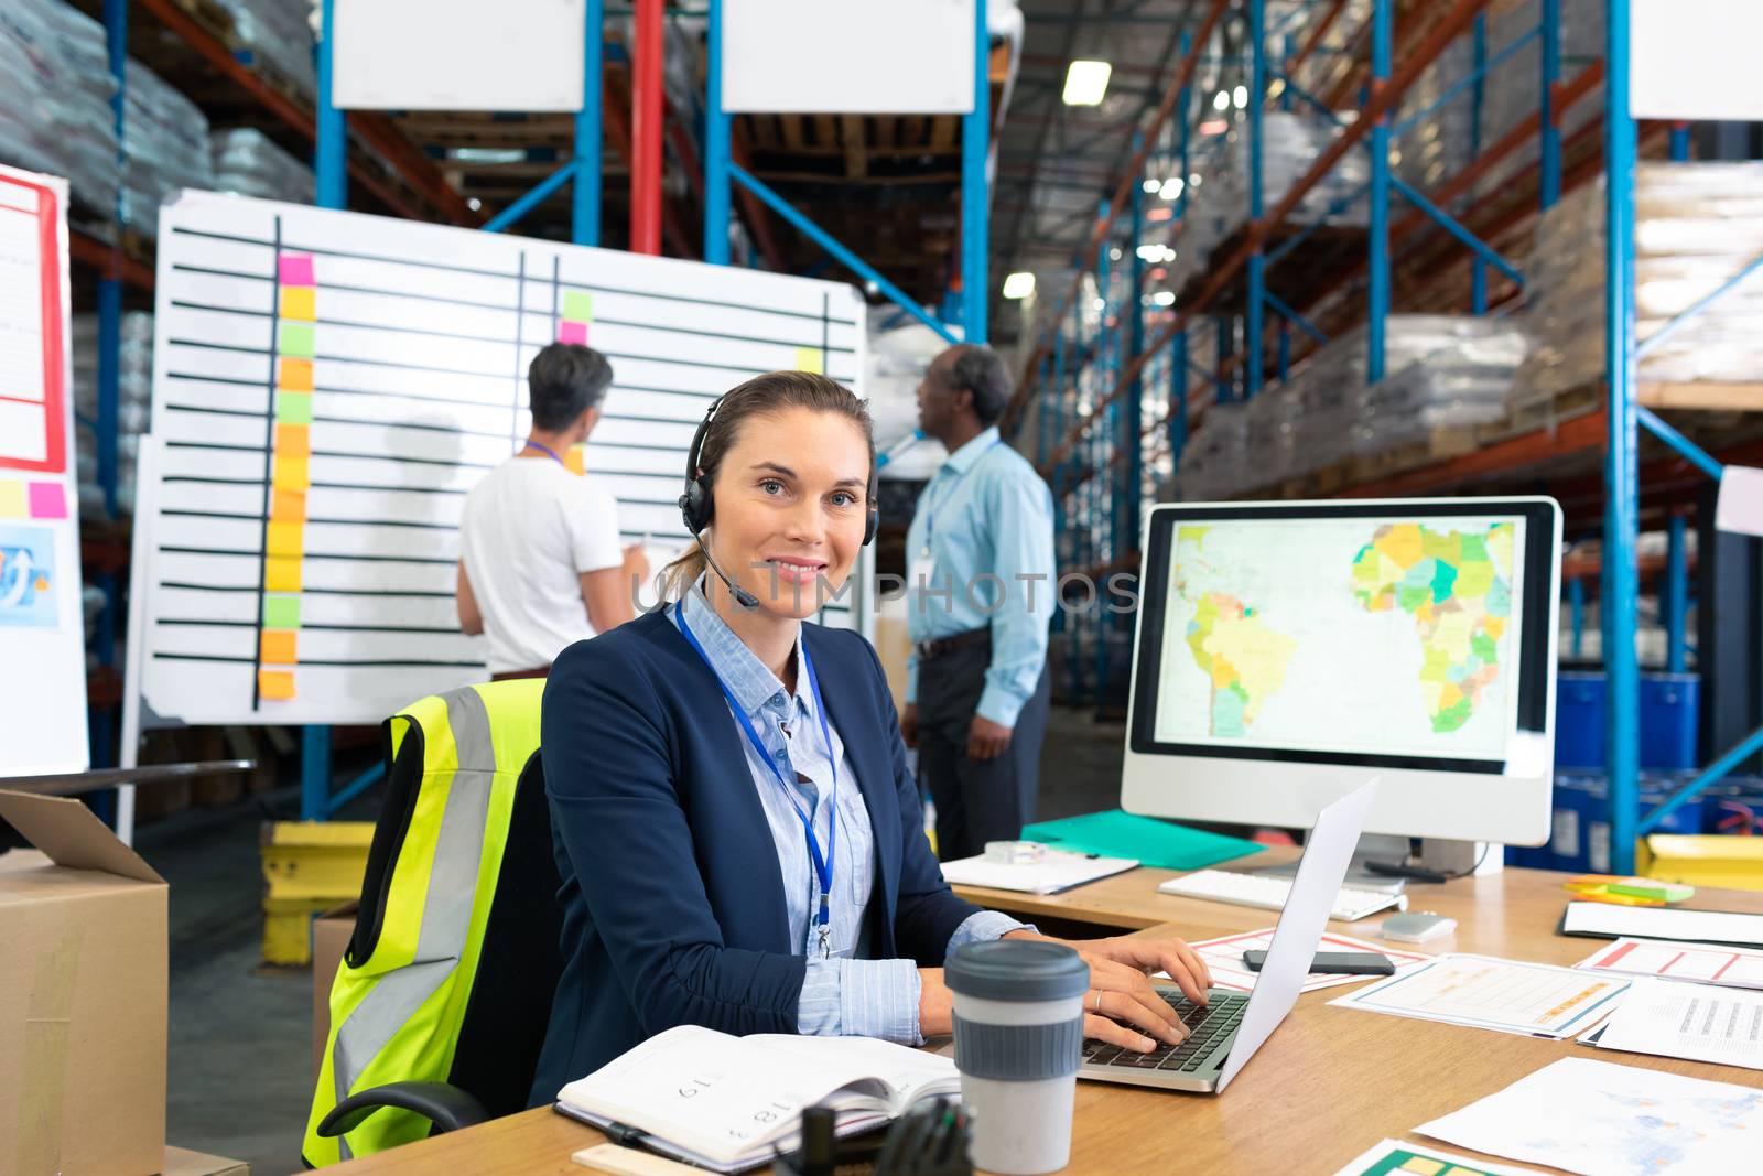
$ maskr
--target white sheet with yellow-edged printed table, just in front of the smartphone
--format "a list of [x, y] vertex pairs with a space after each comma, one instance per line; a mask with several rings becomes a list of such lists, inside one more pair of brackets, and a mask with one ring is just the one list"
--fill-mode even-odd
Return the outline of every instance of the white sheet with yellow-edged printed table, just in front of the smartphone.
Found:
[[1439, 956], [1335, 1000], [1398, 1017], [1527, 1037], [1573, 1037], [1611, 1009], [1627, 980], [1488, 956]]

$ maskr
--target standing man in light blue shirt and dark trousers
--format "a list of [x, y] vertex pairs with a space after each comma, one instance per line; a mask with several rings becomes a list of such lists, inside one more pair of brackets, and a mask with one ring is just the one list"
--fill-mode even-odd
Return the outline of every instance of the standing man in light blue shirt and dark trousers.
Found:
[[919, 425], [948, 460], [906, 532], [901, 733], [919, 749], [943, 860], [1021, 836], [1047, 730], [1053, 494], [998, 435], [1008, 402], [1010, 376], [989, 347], [950, 347], [919, 384]]

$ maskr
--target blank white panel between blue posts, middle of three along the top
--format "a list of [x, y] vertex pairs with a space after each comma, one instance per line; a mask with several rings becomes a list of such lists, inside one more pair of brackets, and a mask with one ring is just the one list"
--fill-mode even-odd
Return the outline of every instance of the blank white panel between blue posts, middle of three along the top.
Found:
[[723, 109], [966, 115], [973, 0], [723, 0]]

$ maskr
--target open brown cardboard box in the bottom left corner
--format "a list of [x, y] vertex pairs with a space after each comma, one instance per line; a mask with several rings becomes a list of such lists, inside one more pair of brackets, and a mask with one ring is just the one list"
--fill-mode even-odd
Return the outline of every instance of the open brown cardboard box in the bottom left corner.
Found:
[[152, 1176], [166, 882], [79, 800], [0, 792], [0, 820], [48, 857], [0, 871], [0, 1176]]

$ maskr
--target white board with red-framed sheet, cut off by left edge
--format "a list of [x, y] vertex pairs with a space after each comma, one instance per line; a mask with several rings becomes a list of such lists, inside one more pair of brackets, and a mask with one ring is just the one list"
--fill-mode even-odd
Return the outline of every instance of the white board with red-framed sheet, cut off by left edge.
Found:
[[67, 180], [0, 166], [0, 776], [83, 772]]

